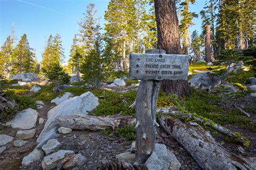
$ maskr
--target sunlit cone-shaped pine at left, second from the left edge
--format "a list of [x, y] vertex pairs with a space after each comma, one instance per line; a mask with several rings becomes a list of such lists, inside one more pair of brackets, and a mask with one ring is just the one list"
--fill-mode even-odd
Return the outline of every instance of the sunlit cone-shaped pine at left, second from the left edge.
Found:
[[29, 73], [33, 72], [35, 64], [35, 53], [32, 52], [33, 48], [29, 46], [26, 34], [23, 34], [15, 48], [15, 63], [14, 73]]

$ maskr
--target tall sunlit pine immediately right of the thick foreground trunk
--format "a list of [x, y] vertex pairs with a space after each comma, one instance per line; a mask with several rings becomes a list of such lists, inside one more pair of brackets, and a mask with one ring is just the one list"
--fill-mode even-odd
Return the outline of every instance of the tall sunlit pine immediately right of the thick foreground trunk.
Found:
[[182, 39], [181, 44], [183, 45], [183, 54], [188, 53], [188, 46], [191, 44], [191, 39], [190, 39], [190, 33], [188, 31], [189, 27], [193, 25], [192, 19], [194, 17], [198, 17], [196, 13], [194, 12], [189, 12], [188, 7], [189, 3], [194, 3], [195, 0], [185, 0], [182, 2], [180, 5], [183, 7], [183, 10], [181, 10], [181, 16], [182, 19], [180, 20], [180, 38]]

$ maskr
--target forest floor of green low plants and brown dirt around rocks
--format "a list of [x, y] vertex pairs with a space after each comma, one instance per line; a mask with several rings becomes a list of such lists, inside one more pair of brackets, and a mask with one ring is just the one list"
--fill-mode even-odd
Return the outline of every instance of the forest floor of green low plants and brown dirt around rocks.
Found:
[[[202, 70], [205, 71], [205, 68]], [[238, 78], [233, 77], [233, 79]], [[243, 77], [243, 80], [240, 82], [244, 81], [244, 79], [248, 79], [248, 77]], [[129, 109], [129, 106], [136, 98], [138, 87], [135, 86], [135, 83], [138, 82], [125, 87], [106, 88], [104, 86], [99, 90], [92, 91], [93, 94], [99, 97], [99, 106], [91, 112], [91, 115], [134, 116], [135, 110], [134, 108]], [[8, 84], [5, 88], [14, 91], [19, 96], [26, 97], [26, 100], [28, 100], [26, 104], [28, 105], [30, 105], [29, 100], [44, 101], [44, 108], [37, 109], [37, 111], [39, 112], [38, 118], [46, 119], [47, 112], [55, 106], [55, 104], [50, 103], [53, 98], [65, 92], [70, 92], [78, 96], [88, 91], [88, 89], [81, 85], [82, 83], [76, 83], [74, 86], [64, 89], [60, 93], [53, 93], [51, 91], [51, 85], [41, 85], [42, 90], [38, 93], [31, 93], [29, 91], [31, 86], [13, 87]], [[242, 85], [246, 86], [246, 84]], [[192, 94], [187, 97], [167, 95], [160, 91], [157, 107], [179, 108], [179, 110], [181, 109], [185, 112], [196, 113], [199, 116], [212, 119], [215, 123], [219, 123], [227, 129], [239, 132], [239, 134], [245, 136], [250, 141], [250, 146], [242, 146], [242, 144], [237, 143], [234, 139], [230, 139], [201, 124], [228, 151], [244, 158], [256, 157], [256, 100], [255, 97], [248, 95], [251, 91], [248, 93], [248, 91], [237, 89], [237, 93], [232, 94], [227, 93], [223, 88], [216, 88], [210, 91], [192, 89]], [[251, 116], [246, 117], [234, 105], [243, 108]], [[35, 106], [32, 107], [35, 108]], [[23, 157], [29, 154], [37, 145], [36, 139], [42, 131], [43, 126], [44, 124], [40, 125], [37, 122], [36, 136], [28, 139], [28, 143], [24, 146], [14, 147], [11, 143], [8, 144], [8, 149], [0, 154], [0, 169], [19, 169]], [[16, 129], [0, 124], [0, 134], [8, 134], [9, 136], [15, 137], [16, 132]], [[129, 140], [124, 139], [116, 131], [106, 133], [105, 131], [73, 130], [69, 134], [61, 134], [57, 140], [62, 144], [60, 149], [72, 150], [75, 153], [81, 153], [87, 158], [84, 168], [96, 169], [102, 160], [114, 161], [117, 154], [130, 151], [134, 138], [130, 138]], [[157, 129], [157, 143], [165, 144], [176, 155], [181, 163], [180, 169], [201, 169], [185, 148], [161, 128]], [[25, 169], [41, 168], [41, 161], [35, 161]]]

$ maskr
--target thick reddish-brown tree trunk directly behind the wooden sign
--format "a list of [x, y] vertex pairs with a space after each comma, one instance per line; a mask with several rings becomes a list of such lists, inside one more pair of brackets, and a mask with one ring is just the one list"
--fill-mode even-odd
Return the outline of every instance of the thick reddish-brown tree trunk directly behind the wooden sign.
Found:
[[[158, 48], [167, 54], [181, 54], [179, 24], [174, 0], [154, 0], [157, 20]], [[165, 80], [161, 88], [170, 94], [188, 95], [190, 88], [185, 80]]]

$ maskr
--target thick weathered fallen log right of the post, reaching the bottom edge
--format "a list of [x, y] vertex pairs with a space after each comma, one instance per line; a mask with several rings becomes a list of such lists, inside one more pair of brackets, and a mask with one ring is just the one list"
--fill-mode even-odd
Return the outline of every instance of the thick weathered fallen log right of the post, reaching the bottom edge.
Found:
[[161, 116], [161, 127], [192, 155], [203, 169], [253, 169], [244, 159], [227, 151], [195, 122]]

